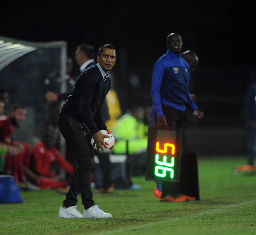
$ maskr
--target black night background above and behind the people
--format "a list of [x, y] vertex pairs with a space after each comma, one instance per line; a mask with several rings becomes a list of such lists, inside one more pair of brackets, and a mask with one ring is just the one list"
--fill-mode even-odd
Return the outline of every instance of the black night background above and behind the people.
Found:
[[[182, 36], [183, 51], [193, 50], [199, 57], [199, 66], [191, 79], [191, 92], [197, 94], [199, 104], [243, 97], [254, 77], [255, 20], [250, 5], [230, 1], [2, 4], [1, 36], [34, 42], [67, 41], [68, 55], [73, 59], [78, 44], [89, 43], [98, 49], [112, 43], [117, 49], [113, 70], [119, 73], [115, 88], [120, 96], [125, 96], [127, 88], [132, 89], [131, 74], [140, 79], [133, 94], [148, 95], [153, 65], [166, 52], [165, 39], [171, 32]], [[201, 105], [201, 109], [209, 108]], [[219, 105], [212, 104], [208, 113], [223, 112], [215, 110], [216, 106]], [[225, 112], [234, 109], [232, 104], [225, 108]]]

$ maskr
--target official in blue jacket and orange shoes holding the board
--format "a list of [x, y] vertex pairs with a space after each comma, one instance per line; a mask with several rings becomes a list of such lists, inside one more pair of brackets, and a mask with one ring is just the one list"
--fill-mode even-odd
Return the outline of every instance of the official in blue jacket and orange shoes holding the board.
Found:
[[[179, 34], [169, 34], [166, 38], [167, 52], [154, 65], [151, 84], [153, 101], [151, 125], [152, 127], [182, 128], [183, 152], [187, 127], [186, 106], [198, 119], [203, 117], [203, 112], [198, 109], [188, 91], [190, 69], [188, 63], [182, 58], [182, 45]], [[160, 201], [186, 200], [195, 200], [195, 198], [182, 195], [178, 183], [162, 182]]]

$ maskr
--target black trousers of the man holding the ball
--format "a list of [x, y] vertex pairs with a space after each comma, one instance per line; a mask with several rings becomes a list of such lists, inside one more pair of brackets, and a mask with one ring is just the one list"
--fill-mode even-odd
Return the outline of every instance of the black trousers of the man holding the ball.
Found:
[[73, 152], [78, 168], [71, 180], [69, 191], [63, 201], [63, 206], [70, 207], [77, 204], [77, 195], [81, 193], [82, 203], [87, 209], [94, 204], [91, 192], [91, 171], [94, 166], [94, 148], [91, 145], [91, 136], [83, 121], [72, 117], [59, 117], [59, 130], [67, 145]]

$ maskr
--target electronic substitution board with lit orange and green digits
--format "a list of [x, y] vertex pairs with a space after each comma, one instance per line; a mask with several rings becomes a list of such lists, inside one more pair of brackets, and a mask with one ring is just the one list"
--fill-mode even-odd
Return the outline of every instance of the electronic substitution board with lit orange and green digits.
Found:
[[146, 180], [179, 182], [181, 128], [148, 129]]

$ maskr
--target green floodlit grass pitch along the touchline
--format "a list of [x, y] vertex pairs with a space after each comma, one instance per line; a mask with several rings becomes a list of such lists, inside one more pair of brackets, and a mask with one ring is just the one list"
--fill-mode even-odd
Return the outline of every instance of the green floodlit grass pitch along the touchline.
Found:
[[[133, 177], [141, 190], [94, 194], [108, 219], [58, 217], [64, 195], [21, 192], [23, 203], [0, 204], [0, 234], [256, 234], [256, 175], [235, 176], [246, 156], [199, 157], [200, 200], [160, 202], [154, 181]], [[77, 209], [82, 212], [81, 197]]]

